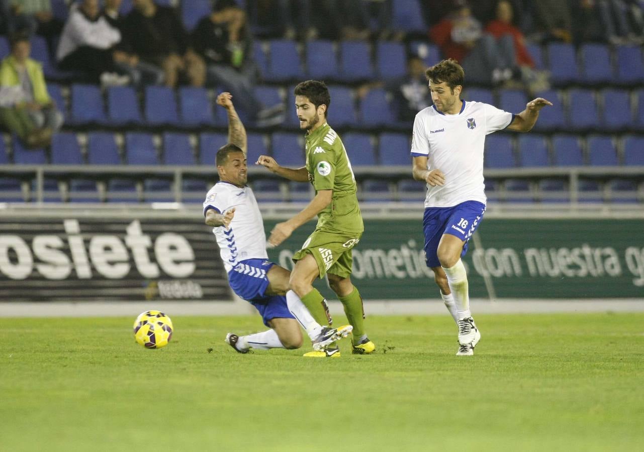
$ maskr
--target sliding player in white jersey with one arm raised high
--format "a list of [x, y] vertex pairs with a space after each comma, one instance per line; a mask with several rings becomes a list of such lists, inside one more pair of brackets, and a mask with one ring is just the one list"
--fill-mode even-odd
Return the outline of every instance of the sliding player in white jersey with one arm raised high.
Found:
[[260, 209], [251, 188], [246, 185], [246, 131], [232, 105], [230, 93], [220, 94], [217, 104], [228, 114], [229, 143], [217, 151], [220, 181], [206, 195], [205, 224], [213, 226], [231, 289], [254, 305], [264, 324], [271, 328], [248, 336], [228, 333], [225, 341], [240, 353], [247, 353], [251, 348], [299, 348], [301, 325], [314, 350], [322, 350], [348, 336], [352, 327], [319, 325], [299, 297], [289, 291], [289, 271], [268, 260]]

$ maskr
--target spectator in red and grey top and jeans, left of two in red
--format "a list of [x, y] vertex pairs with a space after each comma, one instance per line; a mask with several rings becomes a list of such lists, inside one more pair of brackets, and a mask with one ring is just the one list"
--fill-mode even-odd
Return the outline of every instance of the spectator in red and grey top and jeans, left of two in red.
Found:
[[504, 35], [497, 40], [484, 33], [466, 1], [457, 2], [453, 12], [430, 29], [430, 38], [446, 58], [461, 64], [474, 83], [497, 84], [513, 77], [513, 37]]

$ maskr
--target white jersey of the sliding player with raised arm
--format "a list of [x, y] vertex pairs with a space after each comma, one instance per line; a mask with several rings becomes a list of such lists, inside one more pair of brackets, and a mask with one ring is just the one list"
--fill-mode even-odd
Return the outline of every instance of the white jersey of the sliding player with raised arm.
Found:
[[230, 226], [213, 228], [226, 272], [231, 271], [240, 260], [269, 258], [266, 253], [264, 223], [251, 187], [242, 188], [218, 182], [208, 190], [204, 201], [204, 215], [209, 209], [226, 213], [233, 207], [235, 215]]

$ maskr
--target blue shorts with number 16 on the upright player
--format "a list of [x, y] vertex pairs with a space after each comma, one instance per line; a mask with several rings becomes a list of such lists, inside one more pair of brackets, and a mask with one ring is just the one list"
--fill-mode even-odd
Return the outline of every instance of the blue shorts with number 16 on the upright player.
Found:
[[485, 213], [485, 204], [465, 201], [453, 207], [428, 207], [422, 217], [425, 233], [425, 262], [428, 267], [440, 267], [437, 249], [443, 234], [459, 237], [465, 244], [460, 257], [468, 252], [468, 240]]

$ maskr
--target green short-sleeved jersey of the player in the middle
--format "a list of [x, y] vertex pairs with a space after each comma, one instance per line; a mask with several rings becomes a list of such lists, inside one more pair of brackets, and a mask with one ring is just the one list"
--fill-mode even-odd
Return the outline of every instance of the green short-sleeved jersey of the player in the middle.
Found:
[[309, 180], [316, 193], [318, 190], [333, 190], [331, 203], [317, 214], [316, 230], [362, 233], [365, 226], [345, 145], [328, 123], [308, 133], [306, 138]]

